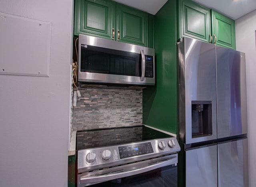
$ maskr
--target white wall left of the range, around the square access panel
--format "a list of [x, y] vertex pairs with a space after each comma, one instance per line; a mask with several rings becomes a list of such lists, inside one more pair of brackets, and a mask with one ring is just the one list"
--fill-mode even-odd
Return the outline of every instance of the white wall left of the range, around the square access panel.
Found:
[[[52, 26], [50, 77], [0, 75], [1, 187], [68, 185], [72, 6], [72, 0], [0, 0], [0, 12]], [[0, 44], [1, 54], [15, 55]]]

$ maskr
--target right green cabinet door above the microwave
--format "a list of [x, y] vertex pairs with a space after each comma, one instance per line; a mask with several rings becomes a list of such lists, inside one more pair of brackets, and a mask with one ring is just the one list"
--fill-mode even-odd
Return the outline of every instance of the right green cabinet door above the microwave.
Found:
[[117, 3], [117, 40], [147, 46], [148, 14]]

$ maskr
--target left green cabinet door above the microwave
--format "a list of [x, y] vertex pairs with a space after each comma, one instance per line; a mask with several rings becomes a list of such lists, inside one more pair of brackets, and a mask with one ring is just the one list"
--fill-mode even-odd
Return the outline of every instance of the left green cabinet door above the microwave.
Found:
[[110, 0], [75, 0], [74, 35], [87, 34], [112, 39], [116, 3]]

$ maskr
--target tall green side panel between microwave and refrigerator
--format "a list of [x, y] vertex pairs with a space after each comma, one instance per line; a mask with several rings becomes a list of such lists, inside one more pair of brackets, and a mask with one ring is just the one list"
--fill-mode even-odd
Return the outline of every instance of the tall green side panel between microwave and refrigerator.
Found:
[[143, 89], [143, 124], [177, 134], [177, 1], [154, 16], [156, 85]]

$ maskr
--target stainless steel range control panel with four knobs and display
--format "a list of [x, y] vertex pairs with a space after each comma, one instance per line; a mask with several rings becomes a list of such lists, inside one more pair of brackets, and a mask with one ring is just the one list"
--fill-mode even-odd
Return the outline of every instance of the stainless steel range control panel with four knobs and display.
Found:
[[112, 168], [179, 151], [180, 146], [175, 137], [78, 150], [78, 173]]

